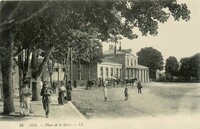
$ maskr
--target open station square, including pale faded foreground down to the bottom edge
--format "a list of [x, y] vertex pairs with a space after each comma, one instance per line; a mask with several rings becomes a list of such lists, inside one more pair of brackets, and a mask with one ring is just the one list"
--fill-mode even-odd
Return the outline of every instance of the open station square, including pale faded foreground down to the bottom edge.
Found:
[[199, 129], [199, 91], [198, 83], [147, 83], [142, 94], [129, 87], [128, 101], [124, 88], [109, 88], [104, 102], [102, 87], [76, 89], [73, 103], [99, 129]]

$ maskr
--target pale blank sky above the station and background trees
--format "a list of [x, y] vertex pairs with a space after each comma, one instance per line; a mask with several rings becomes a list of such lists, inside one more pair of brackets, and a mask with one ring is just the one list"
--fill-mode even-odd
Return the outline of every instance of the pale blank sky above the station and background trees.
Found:
[[[181, 58], [193, 56], [200, 52], [200, 0], [177, 0], [186, 3], [191, 11], [191, 19], [174, 21], [171, 17], [166, 23], [159, 24], [157, 36], [139, 36], [137, 39], [122, 39], [122, 49], [132, 49], [136, 55], [141, 48], [153, 47], [160, 51], [164, 61], [169, 56]], [[114, 43], [112, 43], [114, 44]], [[103, 51], [108, 50], [109, 43], [103, 44]]]

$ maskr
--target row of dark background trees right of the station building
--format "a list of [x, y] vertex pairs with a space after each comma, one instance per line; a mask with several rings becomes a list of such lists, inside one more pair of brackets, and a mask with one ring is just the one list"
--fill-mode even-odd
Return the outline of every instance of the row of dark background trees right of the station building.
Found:
[[180, 63], [176, 57], [170, 56], [166, 59], [165, 65], [161, 52], [152, 47], [142, 48], [137, 56], [139, 64], [149, 67], [151, 79], [156, 79], [157, 70], [165, 68], [166, 79], [169, 81], [173, 81], [174, 76], [178, 77], [178, 81], [200, 81], [200, 53], [182, 58]]

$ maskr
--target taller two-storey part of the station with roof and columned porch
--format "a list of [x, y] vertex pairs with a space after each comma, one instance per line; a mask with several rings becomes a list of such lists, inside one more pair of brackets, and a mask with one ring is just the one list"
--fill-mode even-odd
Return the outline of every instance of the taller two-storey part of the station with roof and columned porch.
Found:
[[114, 50], [110, 47], [104, 52], [105, 59], [122, 64], [121, 79], [137, 78], [142, 82], [149, 82], [149, 68], [138, 64], [138, 57], [131, 49]]

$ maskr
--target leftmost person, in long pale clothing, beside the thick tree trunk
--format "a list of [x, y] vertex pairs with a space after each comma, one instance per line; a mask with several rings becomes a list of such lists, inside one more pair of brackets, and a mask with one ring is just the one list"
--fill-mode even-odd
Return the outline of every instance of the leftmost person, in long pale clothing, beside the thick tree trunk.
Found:
[[29, 88], [29, 82], [25, 81], [20, 92], [20, 115], [22, 116], [26, 116], [29, 115], [29, 113], [32, 113], [30, 106], [31, 95], [32, 92]]

